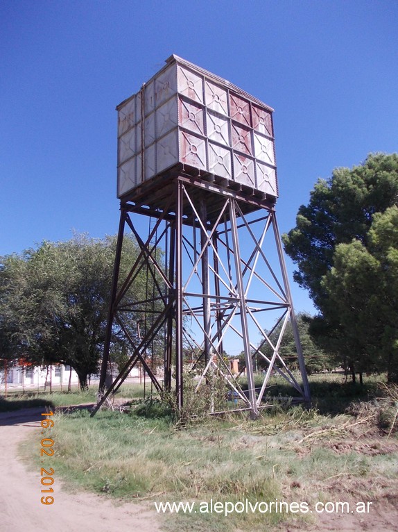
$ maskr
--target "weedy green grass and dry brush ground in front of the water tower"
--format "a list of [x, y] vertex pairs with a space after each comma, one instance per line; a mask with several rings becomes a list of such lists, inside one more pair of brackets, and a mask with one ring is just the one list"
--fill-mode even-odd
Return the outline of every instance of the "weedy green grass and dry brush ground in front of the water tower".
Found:
[[[398, 388], [375, 381], [357, 388], [341, 376], [311, 380], [311, 410], [275, 402], [254, 422], [244, 414], [176, 420], [157, 401], [130, 401], [127, 413], [101, 410], [93, 418], [87, 410], [58, 413], [49, 465], [73, 490], [123, 501], [398, 501]], [[311, 519], [180, 513], [163, 526], [256, 532]]]

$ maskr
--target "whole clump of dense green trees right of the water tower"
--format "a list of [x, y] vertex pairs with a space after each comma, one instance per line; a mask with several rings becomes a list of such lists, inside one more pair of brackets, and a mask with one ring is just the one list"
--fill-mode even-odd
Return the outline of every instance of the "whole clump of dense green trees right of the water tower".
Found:
[[398, 154], [370, 155], [363, 165], [319, 180], [295, 228], [283, 235], [286, 253], [298, 266], [295, 280], [309, 289], [320, 311], [311, 332], [353, 376], [356, 369], [388, 367], [395, 379], [397, 204]]

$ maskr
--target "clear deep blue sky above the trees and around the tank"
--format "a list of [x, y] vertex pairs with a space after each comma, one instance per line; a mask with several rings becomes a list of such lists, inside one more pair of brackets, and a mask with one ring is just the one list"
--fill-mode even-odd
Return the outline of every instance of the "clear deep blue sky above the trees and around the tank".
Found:
[[288, 231], [318, 177], [397, 151], [397, 27], [392, 0], [1, 1], [0, 255], [116, 233], [114, 108], [172, 53], [275, 108]]

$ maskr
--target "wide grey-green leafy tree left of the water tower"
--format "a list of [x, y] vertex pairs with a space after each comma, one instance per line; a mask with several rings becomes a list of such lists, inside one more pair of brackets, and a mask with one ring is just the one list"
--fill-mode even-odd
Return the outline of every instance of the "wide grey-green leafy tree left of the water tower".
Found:
[[[89, 374], [98, 372], [103, 349], [115, 245], [113, 237], [76, 235], [1, 259], [0, 326], [9, 356], [23, 356], [37, 365], [71, 365], [80, 387], [87, 388]], [[121, 279], [137, 254], [135, 241], [125, 238]], [[145, 290], [143, 271], [126, 303], [145, 299]], [[128, 317], [135, 338], [139, 313], [132, 311]], [[114, 342], [118, 341], [122, 335], [115, 326]]]

